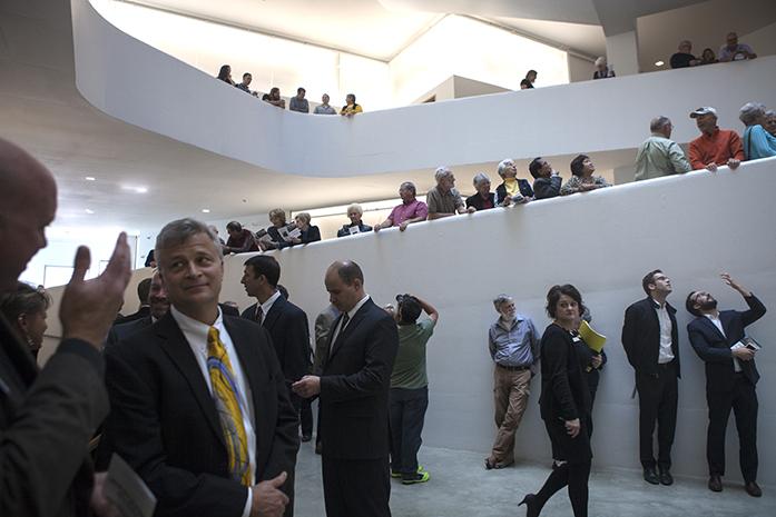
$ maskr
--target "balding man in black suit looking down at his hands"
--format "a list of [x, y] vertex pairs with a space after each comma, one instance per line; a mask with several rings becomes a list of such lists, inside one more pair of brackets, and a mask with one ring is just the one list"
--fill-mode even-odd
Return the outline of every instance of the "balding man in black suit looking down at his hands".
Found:
[[321, 376], [305, 376], [293, 389], [320, 397], [326, 515], [390, 517], [387, 399], [396, 324], [364, 292], [357, 264], [332, 264], [325, 284], [342, 315]]

